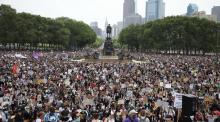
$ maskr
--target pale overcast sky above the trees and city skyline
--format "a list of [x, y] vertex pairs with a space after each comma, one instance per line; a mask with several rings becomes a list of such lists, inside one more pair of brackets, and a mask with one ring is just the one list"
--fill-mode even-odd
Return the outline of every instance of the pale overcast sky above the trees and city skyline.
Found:
[[[147, 0], [136, 0], [137, 12], [145, 16]], [[122, 20], [124, 0], [0, 0], [0, 4], [9, 4], [17, 12], [28, 12], [44, 17], [69, 17], [82, 20], [87, 24], [97, 21], [104, 28], [106, 18], [110, 24]], [[164, 0], [165, 15], [186, 13], [189, 3], [199, 6], [199, 11], [211, 13], [213, 6], [220, 6], [220, 0]]]

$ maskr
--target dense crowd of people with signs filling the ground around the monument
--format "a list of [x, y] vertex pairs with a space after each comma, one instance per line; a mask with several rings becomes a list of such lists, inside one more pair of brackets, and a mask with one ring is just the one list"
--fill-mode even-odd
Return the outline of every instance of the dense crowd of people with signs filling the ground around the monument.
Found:
[[[2, 122], [220, 121], [214, 56], [131, 54], [144, 62], [73, 60], [81, 52], [0, 52]], [[183, 116], [175, 94], [198, 98]]]

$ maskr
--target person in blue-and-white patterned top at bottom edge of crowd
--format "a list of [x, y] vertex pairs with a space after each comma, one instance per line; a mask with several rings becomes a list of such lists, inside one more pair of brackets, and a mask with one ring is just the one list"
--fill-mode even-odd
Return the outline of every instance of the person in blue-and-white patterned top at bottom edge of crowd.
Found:
[[55, 113], [54, 107], [51, 107], [49, 113], [45, 114], [44, 122], [59, 122], [59, 117], [57, 113]]

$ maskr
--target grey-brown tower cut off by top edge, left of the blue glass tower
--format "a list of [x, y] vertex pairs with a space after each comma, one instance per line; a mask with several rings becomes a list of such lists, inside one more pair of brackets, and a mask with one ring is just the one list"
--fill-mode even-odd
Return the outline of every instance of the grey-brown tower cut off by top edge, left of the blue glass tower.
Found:
[[123, 6], [123, 22], [127, 16], [135, 14], [135, 1], [134, 0], [124, 0]]

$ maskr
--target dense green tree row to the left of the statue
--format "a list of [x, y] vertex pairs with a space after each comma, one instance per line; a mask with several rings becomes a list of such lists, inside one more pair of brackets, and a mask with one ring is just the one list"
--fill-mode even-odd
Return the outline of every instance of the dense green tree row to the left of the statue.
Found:
[[95, 41], [95, 32], [81, 21], [17, 13], [9, 5], [0, 6], [1, 49], [72, 50]]

